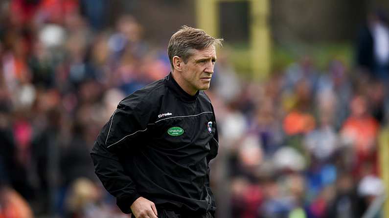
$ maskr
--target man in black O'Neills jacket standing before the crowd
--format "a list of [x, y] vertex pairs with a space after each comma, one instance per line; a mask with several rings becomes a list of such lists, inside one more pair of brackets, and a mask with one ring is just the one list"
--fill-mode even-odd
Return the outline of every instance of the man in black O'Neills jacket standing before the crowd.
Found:
[[210, 218], [209, 161], [218, 133], [209, 88], [221, 39], [183, 26], [171, 37], [172, 72], [119, 102], [92, 148], [95, 172], [123, 213]]

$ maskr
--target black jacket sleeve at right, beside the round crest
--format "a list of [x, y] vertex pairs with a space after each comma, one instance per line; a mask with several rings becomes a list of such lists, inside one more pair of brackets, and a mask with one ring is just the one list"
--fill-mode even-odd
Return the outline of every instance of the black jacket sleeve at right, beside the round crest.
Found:
[[[212, 111], [213, 111], [213, 108], [212, 108]], [[209, 151], [209, 154], [206, 156], [206, 162], [207, 162], [207, 165], [208, 165], [207, 179], [206, 179], [206, 189], [207, 189], [208, 194], [209, 194], [209, 196], [211, 198], [210, 211], [211, 211], [213, 217], [215, 217], [214, 213], [216, 211], [216, 201], [215, 201], [215, 197], [213, 196], [213, 193], [212, 193], [212, 190], [211, 190], [210, 184], [209, 184], [209, 176], [210, 176], [209, 161], [216, 157], [216, 155], [218, 153], [218, 149], [219, 149], [219, 135], [218, 135], [218, 131], [217, 131], [216, 121], [215, 121], [215, 134], [214, 134], [213, 138], [209, 141], [209, 147], [210, 147], [210, 151]]]

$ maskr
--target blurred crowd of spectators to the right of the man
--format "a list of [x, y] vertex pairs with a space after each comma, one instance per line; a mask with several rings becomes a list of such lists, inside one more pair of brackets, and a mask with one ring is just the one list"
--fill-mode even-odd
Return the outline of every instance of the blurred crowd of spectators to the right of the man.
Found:
[[301, 57], [260, 83], [217, 63], [211, 93], [226, 165], [216, 174], [228, 181], [219, 194], [229, 198], [219, 203], [230, 208], [222, 217], [384, 217], [389, 26], [382, 11], [356, 33], [354, 59], [351, 66], [332, 59], [323, 70]]

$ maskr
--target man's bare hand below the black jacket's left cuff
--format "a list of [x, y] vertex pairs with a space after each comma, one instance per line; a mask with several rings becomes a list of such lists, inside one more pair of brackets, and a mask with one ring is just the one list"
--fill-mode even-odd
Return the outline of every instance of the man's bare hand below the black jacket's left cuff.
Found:
[[136, 218], [158, 218], [155, 204], [146, 198], [137, 198], [131, 205], [131, 211]]

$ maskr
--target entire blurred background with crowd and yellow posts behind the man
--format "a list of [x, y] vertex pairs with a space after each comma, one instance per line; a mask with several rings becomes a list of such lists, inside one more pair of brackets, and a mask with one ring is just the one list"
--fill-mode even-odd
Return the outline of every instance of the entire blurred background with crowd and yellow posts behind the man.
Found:
[[0, 218], [125, 218], [100, 128], [170, 71], [183, 24], [224, 38], [217, 218], [388, 218], [387, 0], [0, 0]]

